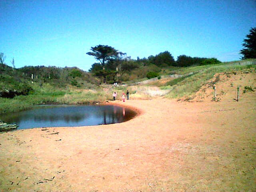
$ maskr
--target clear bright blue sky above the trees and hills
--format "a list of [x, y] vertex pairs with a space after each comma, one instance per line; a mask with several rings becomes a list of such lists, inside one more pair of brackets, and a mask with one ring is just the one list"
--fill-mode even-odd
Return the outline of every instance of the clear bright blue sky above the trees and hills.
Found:
[[0, 0], [0, 52], [11, 66], [77, 66], [88, 71], [92, 46], [133, 59], [168, 50], [239, 60], [256, 27], [256, 0]]

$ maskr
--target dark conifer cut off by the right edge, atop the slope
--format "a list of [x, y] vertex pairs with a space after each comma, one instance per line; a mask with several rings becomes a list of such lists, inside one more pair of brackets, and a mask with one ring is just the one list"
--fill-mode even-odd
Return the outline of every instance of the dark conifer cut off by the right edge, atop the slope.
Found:
[[256, 28], [251, 28], [246, 37], [242, 44], [245, 48], [240, 50], [240, 54], [244, 55], [242, 59], [256, 58]]

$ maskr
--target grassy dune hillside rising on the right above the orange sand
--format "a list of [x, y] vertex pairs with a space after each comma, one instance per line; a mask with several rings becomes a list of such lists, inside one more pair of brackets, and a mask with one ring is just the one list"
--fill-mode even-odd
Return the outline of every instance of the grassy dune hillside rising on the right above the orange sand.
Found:
[[[176, 70], [169, 71], [171, 74], [162, 74], [160, 78], [128, 82], [127, 89], [132, 90], [134, 94], [131, 94], [131, 97], [134, 99], [166, 95], [166, 98], [193, 100], [195, 97], [198, 99], [198, 95], [204, 94], [200, 91], [200, 88], [206, 85], [210, 92], [213, 91], [213, 85], [218, 82], [218, 79], [212, 80], [212, 78], [216, 75], [219, 76], [219, 74], [225, 74], [225, 76], [229, 77], [234, 74], [251, 74], [250, 78], [253, 80], [256, 70], [255, 64], [256, 60], [248, 60], [243, 62], [221, 63], [218, 65], [176, 68]], [[167, 70], [165, 70], [165, 72], [166, 71]], [[236, 77], [239, 79], [242, 78], [239, 75]], [[241, 93], [243, 91], [243, 86], [249, 86], [249, 84], [250, 83], [246, 82], [246, 80], [244, 80], [244, 82], [241, 81], [239, 84], [234, 84], [233, 82], [233, 88], [234, 90], [237, 90], [238, 85], [242, 86]], [[217, 88], [217, 92], [219, 91], [219, 96], [221, 90], [218, 89], [219, 88]]]

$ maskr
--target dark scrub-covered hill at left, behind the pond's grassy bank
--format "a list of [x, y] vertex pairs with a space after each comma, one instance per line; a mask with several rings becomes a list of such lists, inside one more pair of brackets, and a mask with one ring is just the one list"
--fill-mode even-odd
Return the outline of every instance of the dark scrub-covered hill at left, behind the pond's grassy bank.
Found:
[[24, 66], [14, 69], [6, 64], [0, 64], [1, 97], [28, 95], [33, 92], [32, 83], [50, 83], [62, 88], [68, 85], [86, 88], [99, 85], [100, 80], [77, 67]]

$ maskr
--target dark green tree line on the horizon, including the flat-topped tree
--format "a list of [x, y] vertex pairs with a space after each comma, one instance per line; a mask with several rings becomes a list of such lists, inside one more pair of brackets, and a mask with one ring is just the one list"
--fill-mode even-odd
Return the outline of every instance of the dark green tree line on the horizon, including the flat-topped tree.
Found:
[[[157, 74], [166, 67], [188, 67], [196, 65], [220, 63], [216, 58], [190, 57], [186, 55], [178, 56], [174, 60], [168, 51], [161, 52], [156, 56], [150, 55], [148, 58], [132, 59], [126, 53], [120, 52], [108, 45], [98, 45], [91, 47], [88, 55], [94, 56], [98, 62], [92, 64], [89, 72], [102, 79], [102, 82], [120, 82], [144, 78], [148, 74]], [[150, 75], [150, 77], [152, 77]]]

